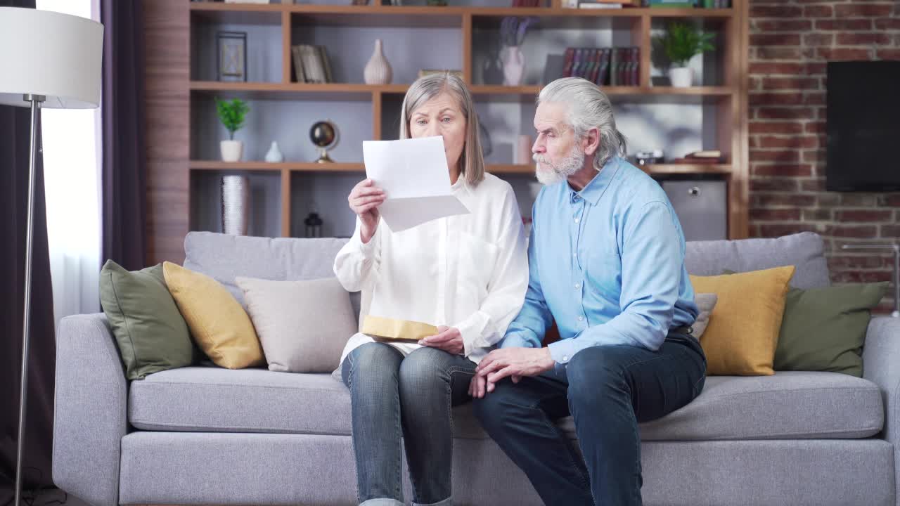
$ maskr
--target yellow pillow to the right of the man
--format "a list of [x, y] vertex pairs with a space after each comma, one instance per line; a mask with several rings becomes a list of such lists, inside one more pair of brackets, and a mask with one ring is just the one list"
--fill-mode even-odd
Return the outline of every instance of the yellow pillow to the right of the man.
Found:
[[724, 276], [690, 276], [695, 293], [718, 295], [700, 346], [708, 375], [774, 375], [781, 317], [794, 266]]

